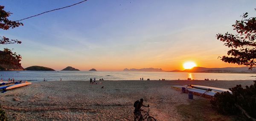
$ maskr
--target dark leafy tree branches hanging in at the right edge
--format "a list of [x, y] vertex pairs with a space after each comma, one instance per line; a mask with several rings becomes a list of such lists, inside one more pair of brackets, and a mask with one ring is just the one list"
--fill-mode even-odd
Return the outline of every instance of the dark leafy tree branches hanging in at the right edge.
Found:
[[[256, 10], [256, 9], [255, 9]], [[232, 25], [237, 34], [217, 34], [217, 39], [225, 42], [224, 45], [232, 48], [228, 56], [221, 60], [228, 63], [250, 66], [256, 65], [256, 17], [249, 17], [248, 13], [242, 15], [242, 20], [236, 20]]]

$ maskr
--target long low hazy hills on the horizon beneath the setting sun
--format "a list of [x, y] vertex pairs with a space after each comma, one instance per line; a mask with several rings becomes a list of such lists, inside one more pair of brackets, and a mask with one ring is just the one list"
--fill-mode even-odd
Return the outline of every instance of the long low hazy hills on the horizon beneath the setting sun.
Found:
[[186, 70], [172, 70], [168, 72], [189, 72], [189, 73], [256, 73], [256, 70], [249, 70], [249, 67], [226, 67], [226, 68], [204, 68], [194, 67]]

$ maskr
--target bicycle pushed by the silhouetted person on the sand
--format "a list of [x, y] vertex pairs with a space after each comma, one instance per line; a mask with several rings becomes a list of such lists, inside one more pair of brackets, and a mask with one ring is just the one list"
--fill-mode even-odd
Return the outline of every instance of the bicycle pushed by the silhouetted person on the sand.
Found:
[[[148, 105], [148, 111], [143, 111], [142, 112], [146, 113], [145, 115], [142, 115], [141, 111], [138, 113], [134, 113], [134, 121], [144, 121], [147, 118], [147, 121], [157, 121], [154, 117], [150, 116], [148, 114], [149, 112], [149, 105]], [[145, 117], [145, 118], [143, 118]]]

